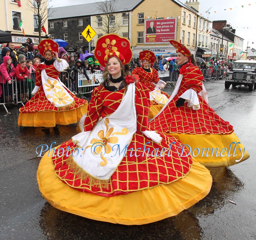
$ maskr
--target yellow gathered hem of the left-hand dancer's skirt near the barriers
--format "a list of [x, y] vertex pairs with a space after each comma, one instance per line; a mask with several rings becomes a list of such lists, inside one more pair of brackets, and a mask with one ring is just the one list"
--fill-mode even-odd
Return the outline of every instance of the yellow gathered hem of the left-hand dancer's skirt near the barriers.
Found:
[[55, 127], [55, 125], [69, 125], [77, 123], [87, 112], [88, 104], [68, 111], [39, 111], [20, 113], [18, 126], [23, 127]]

